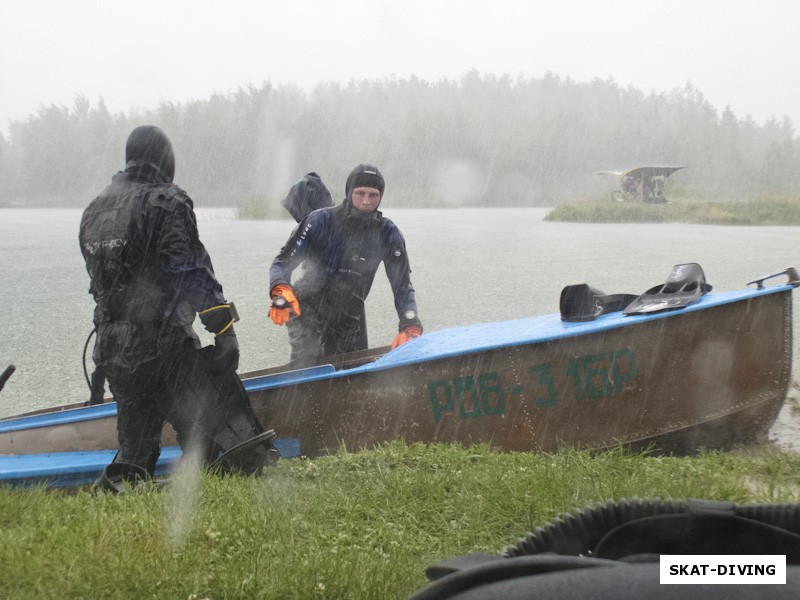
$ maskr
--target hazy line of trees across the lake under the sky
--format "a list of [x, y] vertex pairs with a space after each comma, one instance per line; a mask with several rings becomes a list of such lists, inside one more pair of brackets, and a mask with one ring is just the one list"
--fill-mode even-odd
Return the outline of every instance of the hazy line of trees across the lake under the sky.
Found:
[[610, 191], [599, 171], [648, 164], [687, 166], [668, 188], [686, 197], [800, 189], [800, 139], [787, 117], [757, 124], [720, 112], [690, 83], [645, 94], [612, 79], [473, 71], [308, 93], [265, 83], [127, 114], [79, 95], [0, 134], [0, 205], [85, 205], [123, 168], [125, 140], [142, 124], [170, 136], [176, 182], [198, 206], [278, 206], [310, 171], [340, 200], [360, 162], [381, 169], [392, 206], [552, 206]]

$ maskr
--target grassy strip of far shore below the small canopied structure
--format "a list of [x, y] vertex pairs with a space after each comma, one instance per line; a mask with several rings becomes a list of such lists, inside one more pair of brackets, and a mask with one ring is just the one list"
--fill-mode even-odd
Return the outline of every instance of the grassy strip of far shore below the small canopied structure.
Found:
[[559, 204], [547, 214], [545, 220], [588, 223], [800, 225], [800, 198], [762, 197], [746, 202], [675, 199], [668, 204], [586, 200]]

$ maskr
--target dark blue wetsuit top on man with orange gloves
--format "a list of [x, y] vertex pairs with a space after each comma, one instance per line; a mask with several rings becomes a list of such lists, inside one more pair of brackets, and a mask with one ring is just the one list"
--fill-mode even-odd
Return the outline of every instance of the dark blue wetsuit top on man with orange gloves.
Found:
[[[400, 230], [379, 211], [363, 213], [349, 199], [306, 216], [270, 268], [270, 289], [291, 284], [300, 308], [352, 312], [363, 308], [381, 262], [392, 286], [399, 330], [421, 327], [411, 285], [411, 269]], [[291, 274], [303, 264], [303, 275]]]

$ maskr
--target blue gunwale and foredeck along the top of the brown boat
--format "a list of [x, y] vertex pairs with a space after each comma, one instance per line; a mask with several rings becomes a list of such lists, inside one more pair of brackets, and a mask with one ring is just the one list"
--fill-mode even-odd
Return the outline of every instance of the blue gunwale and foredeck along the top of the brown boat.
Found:
[[[702, 296], [696, 303], [677, 310], [643, 315], [623, 315], [613, 312], [601, 315], [594, 321], [565, 322], [558, 313], [537, 315], [523, 319], [478, 323], [433, 331], [387, 352], [373, 362], [350, 369], [335, 370], [332, 365], [319, 365], [308, 369], [286, 371], [244, 379], [248, 392], [288, 387], [321, 379], [336, 379], [406, 367], [433, 360], [476, 354], [512, 346], [530, 345], [558, 339], [600, 333], [612, 329], [701, 311], [707, 308], [732, 304], [742, 300], [780, 292], [791, 292], [790, 284], [773, 285], [758, 289], [714, 292]], [[443, 343], [446, 342], [446, 343]], [[56, 424], [92, 421], [115, 417], [114, 402], [95, 406], [77, 407], [55, 412], [0, 420], [0, 433], [47, 427]]]

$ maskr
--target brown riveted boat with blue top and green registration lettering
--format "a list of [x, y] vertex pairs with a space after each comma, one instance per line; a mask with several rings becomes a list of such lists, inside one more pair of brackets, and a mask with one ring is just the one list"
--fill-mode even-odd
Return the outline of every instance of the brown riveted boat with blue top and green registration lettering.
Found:
[[[764, 278], [677, 310], [481, 323], [242, 379], [283, 456], [394, 439], [505, 451], [724, 449], [765, 439], [788, 393], [797, 281], [793, 269], [781, 274], [788, 284], [764, 287]], [[167, 428], [164, 444], [174, 443]], [[116, 446], [113, 402], [3, 419], [0, 482], [39, 478], [26, 457], [49, 464], [55, 473], [41, 478], [53, 481], [76, 455]], [[107, 456], [97, 461], [99, 473]]]

